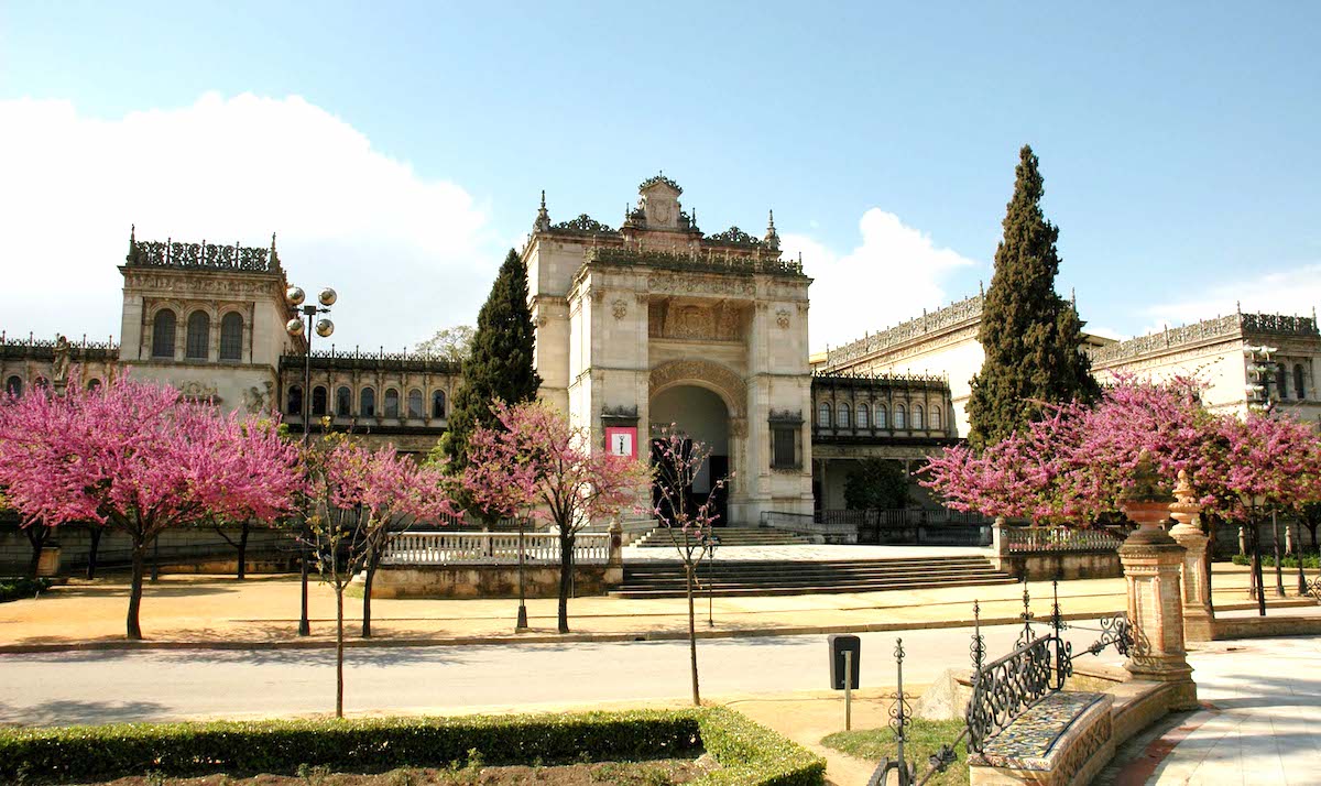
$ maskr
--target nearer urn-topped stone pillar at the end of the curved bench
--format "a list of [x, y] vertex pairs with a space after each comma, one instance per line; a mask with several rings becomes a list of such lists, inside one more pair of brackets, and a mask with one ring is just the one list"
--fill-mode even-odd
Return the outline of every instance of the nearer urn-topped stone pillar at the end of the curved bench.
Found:
[[1124, 503], [1124, 514], [1139, 524], [1119, 547], [1128, 583], [1128, 621], [1133, 626], [1133, 649], [1124, 668], [1133, 679], [1174, 686], [1170, 709], [1194, 709], [1197, 683], [1184, 650], [1184, 547], [1160, 528], [1169, 518], [1168, 505]]

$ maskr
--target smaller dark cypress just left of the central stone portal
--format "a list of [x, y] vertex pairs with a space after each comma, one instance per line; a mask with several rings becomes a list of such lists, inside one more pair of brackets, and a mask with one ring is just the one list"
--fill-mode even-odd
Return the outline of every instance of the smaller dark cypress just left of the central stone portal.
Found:
[[527, 305], [527, 271], [518, 252], [510, 248], [477, 314], [472, 351], [464, 363], [464, 382], [454, 392], [449, 428], [439, 445], [456, 472], [468, 464], [469, 435], [478, 424], [495, 424], [491, 402], [499, 399], [515, 404], [536, 398], [542, 378], [532, 367], [534, 341], [532, 312]]

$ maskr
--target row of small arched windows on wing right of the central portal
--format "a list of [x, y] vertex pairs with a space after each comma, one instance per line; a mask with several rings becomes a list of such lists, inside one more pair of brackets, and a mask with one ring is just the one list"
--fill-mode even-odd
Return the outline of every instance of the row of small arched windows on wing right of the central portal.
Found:
[[925, 391], [814, 390], [818, 436], [948, 436], [948, 398]]

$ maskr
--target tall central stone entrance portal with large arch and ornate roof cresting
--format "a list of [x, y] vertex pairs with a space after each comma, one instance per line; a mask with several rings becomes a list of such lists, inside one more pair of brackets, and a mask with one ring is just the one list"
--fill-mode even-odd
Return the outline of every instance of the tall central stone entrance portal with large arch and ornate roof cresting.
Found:
[[729, 522], [807, 513], [811, 279], [781, 258], [773, 217], [762, 238], [708, 236], [680, 194], [643, 181], [618, 230], [551, 223], [543, 201], [522, 254], [542, 396], [602, 445], [610, 427], [635, 449], [671, 423], [694, 432], [721, 464], [712, 480], [729, 477]]

